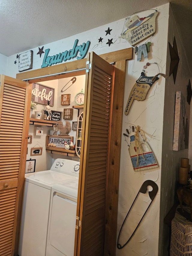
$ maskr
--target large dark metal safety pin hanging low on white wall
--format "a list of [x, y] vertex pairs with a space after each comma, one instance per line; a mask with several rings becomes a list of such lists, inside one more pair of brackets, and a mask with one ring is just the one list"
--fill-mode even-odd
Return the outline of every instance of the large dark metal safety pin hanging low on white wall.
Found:
[[[133, 207], [135, 201], [137, 200], [137, 197], [138, 197], [139, 193], [146, 194], [146, 191], [147, 191], [147, 187], [148, 187], [148, 186], [152, 186], [152, 188], [153, 188], [152, 191], [149, 191], [149, 197], [150, 197], [150, 199], [151, 199], [151, 203], [149, 204], [149, 206], [152, 204], [152, 201], [153, 201], [153, 199], [155, 198], [155, 196], [156, 196], [156, 194], [157, 194], [157, 191], [158, 191], [158, 185], [157, 185], [154, 181], [152, 181], [152, 180], [146, 180], [145, 182], [143, 182], [143, 185], [141, 186], [139, 192], [137, 193], [137, 196], [135, 197], [134, 202], [133, 202], [132, 205], [131, 205], [131, 208]], [[120, 242], [119, 242], [119, 239], [120, 239], [120, 235], [121, 235], [121, 233], [122, 233], [122, 228], [123, 228], [123, 226], [124, 226], [124, 224], [125, 224], [125, 221], [127, 220], [128, 215], [129, 215], [129, 213], [130, 213], [130, 211], [131, 211], [131, 208], [129, 209], [128, 214], [126, 215], [125, 220], [123, 221], [123, 224], [122, 224], [121, 229], [120, 229], [120, 231], [119, 231], [119, 236], [118, 236], [118, 239], [117, 239], [117, 248], [118, 248], [118, 249], [122, 249], [125, 245], [128, 244], [128, 242], [130, 241], [130, 239], [131, 239], [132, 236], [134, 235], [135, 231], [136, 231], [137, 228], [139, 227], [139, 224], [141, 223], [141, 221], [142, 221], [143, 217], [145, 216], [147, 210], [149, 209], [149, 206], [147, 207], [145, 213], [143, 214], [143, 216], [142, 216], [142, 218], [140, 219], [140, 221], [139, 221], [137, 227], [135, 228], [135, 230], [133, 231], [133, 233], [131, 234], [131, 236], [130, 236], [129, 239], [127, 240], [127, 242], [126, 242], [124, 245], [121, 245]]]

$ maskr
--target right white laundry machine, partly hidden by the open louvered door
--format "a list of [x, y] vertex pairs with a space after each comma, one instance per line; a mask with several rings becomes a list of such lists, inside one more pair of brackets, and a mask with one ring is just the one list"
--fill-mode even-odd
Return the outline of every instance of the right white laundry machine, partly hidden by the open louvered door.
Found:
[[73, 256], [78, 179], [52, 186], [46, 256]]

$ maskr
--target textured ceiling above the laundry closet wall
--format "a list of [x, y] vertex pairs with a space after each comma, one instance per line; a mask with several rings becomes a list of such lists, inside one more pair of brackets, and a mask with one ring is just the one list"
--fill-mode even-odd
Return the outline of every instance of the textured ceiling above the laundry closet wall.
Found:
[[168, 2], [191, 49], [191, 0], [0, 0], [0, 53], [11, 56]]

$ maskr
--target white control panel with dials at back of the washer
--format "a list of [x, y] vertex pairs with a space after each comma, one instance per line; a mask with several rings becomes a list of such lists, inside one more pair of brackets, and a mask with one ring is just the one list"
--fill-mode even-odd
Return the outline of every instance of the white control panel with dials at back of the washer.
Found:
[[79, 177], [79, 167], [80, 167], [80, 162], [78, 161], [57, 158], [52, 164], [52, 167], [50, 170]]

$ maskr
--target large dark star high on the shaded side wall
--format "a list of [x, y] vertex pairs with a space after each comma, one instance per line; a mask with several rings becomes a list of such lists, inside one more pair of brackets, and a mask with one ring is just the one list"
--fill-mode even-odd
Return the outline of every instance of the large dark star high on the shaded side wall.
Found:
[[170, 56], [171, 56], [169, 75], [171, 75], [173, 73], [173, 80], [174, 80], [174, 84], [175, 84], [176, 76], [177, 76], [177, 69], [178, 69], [178, 65], [179, 65], [179, 55], [178, 55], [175, 37], [173, 40], [173, 47], [169, 43], [169, 50], [170, 50]]

